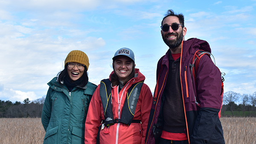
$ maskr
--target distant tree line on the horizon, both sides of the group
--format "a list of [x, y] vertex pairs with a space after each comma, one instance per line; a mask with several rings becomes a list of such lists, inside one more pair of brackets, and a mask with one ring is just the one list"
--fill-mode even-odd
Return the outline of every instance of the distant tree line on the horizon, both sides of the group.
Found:
[[[23, 103], [0, 100], [0, 118], [41, 118], [44, 99], [42, 97], [29, 101], [29, 98], [26, 98]], [[236, 112], [239, 112], [239, 115]], [[256, 92], [251, 95], [225, 92], [221, 116], [256, 117]]]

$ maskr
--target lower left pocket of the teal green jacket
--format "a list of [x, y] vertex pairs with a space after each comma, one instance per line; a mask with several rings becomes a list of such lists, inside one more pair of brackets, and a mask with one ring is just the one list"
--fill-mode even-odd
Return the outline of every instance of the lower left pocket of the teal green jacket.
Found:
[[53, 127], [45, 133], [44, 144], [55, 144], [57, 143], [57, 132], [58, 126]]

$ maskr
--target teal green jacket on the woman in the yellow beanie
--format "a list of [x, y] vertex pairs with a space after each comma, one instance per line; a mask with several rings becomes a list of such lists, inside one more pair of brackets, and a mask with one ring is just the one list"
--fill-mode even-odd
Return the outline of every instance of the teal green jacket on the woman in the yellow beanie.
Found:
[[49, 89], [42, 111], [42, 124], [46, 131], [44, 144], [84, 144], [84, 123], [96, 85], [74, 87], [60, 85], [57, 78], [48, 83]]

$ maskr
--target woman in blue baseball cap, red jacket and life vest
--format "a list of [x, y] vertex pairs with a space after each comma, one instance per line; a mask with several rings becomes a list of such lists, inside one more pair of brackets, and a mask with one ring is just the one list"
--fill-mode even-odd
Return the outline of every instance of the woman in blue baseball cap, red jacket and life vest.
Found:
[[116, 51], [113, 72], [93, 94], [85, 122], [85, 144], [145, 144], [153, 100], [145, 76], [135, 69], [134, 52]]

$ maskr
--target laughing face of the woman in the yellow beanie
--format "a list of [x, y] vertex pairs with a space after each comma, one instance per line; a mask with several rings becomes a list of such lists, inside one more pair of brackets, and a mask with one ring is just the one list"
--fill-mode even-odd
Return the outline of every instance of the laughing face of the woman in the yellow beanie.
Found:
[[[75, 63], [80, 64], [80, 63]], [[73, 68], [67, 66], [67, 74], [69, 75], [70, 79], [72, 81], [76, 81], [84, 74], [84, 67], [82, 69], [78, 69], [77, 65], [75, 65]]]

